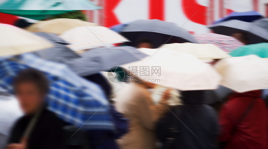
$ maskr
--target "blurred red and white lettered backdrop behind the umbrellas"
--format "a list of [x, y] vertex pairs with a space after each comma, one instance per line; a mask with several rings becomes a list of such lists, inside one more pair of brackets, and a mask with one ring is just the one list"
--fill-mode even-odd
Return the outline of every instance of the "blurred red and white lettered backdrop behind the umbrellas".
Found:
[[[5, 2], [1, 0], [0, 3]], [[209, 32], [206, 25], [231, 12], [256, 11], [268, 15], [267, 0], [92, 0], [100, 10], [83, 10], [84, 20], [110, 27], [137, 19], [175, 22], [192, 34]], [[198, 13], [191, 17], [196, 11]], [[70, 15], [73, 17], [72, 15]], [[0, 22], [13, 24], [18, 16], [0, 13]]]

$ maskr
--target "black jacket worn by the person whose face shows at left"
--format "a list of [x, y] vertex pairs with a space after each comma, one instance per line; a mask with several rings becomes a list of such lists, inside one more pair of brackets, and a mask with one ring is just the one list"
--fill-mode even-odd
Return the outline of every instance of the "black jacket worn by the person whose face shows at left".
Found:
[[[22, 116], [13, 126], [8, 140], [10, 143], [20, 143], [22, 135], [33, 116]], [[56, 115], [44, 109], [27, 142], [27, 149], [62, 149], [64, 146], [63, 126], [65, 123]]]

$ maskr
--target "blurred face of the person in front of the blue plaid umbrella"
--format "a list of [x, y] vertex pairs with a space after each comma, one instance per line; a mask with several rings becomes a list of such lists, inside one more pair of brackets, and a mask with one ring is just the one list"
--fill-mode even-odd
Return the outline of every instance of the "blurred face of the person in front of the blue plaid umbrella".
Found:
[[33, 82], [18, 83], [15, 94], [25, 114], [35, 113], [44, 103], [44, 95]]

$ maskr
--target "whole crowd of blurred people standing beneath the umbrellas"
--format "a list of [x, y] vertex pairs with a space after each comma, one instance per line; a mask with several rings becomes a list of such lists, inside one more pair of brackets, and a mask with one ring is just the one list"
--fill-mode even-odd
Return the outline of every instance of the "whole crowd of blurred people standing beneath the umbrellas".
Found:
[[[245, 33], [232, 37], [248, 44]], [[141, 38], [136, 48], [153, 49]], [[220, 60], [211, 62], [212, 67]], [[178, 91], [152, 82], [113, 85], [101, 73], [84, 76], [103, 90], [116, 131], [84, 130], [47, 109], [50, 85], [43, 72], [25, 69], [13, 81], [23, 116], [12, 126], [5, 149], [267, 149], [268, 111], [263, 92]], [[161, 89], [160, 89], [161, 88]], [[215, 95], [220, 93], [220, 95]], [[93, 115], [94, 116], [94, 115]]]

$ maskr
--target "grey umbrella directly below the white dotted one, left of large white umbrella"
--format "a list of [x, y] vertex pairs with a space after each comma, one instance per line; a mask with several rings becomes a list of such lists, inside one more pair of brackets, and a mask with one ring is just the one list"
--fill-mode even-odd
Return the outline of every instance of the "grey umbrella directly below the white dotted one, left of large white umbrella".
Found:
[[67, 62], [68, 66], [80, 76], [88, 76], [107, 71], [112, 66], [138, 61], [147, 55], [130, 46], [90, 49], [82, 58]]

